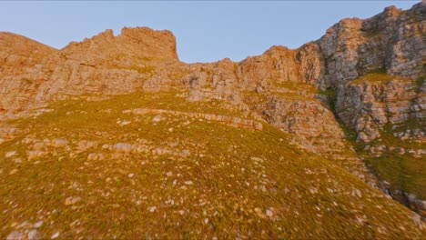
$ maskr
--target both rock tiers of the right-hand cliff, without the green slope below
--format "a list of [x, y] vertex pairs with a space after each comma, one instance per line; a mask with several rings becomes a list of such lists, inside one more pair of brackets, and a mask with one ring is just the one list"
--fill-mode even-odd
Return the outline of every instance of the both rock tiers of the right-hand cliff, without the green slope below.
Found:
[[[418, 83], [409, 79], [424, 75], [424, 11], [424, 3], [405, 12], [388, 7], [363, 21], [342, 20], [320, 39], [328, 70], [326, 82], [338, 88], [337, 114], [358, 132], [361, 141], [377, 139], [378, 127], [388, 122], [401, 123], [410, 116], [423, 115], [418, 104], [423, 96], [416, 94]], [[360, 79], [351, 81], [356, 78]], [[363, 81], [367, 78], [370, 81]], [[378, 97], [378, 89], [386, 96]], [[418, 114], [410, 115], [411, 110]]]

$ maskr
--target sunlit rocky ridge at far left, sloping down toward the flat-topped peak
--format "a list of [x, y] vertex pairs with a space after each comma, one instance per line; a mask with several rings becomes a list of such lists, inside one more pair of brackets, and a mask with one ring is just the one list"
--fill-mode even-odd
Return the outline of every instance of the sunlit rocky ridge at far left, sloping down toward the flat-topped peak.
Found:
[[[48, 81], [43, 65], [56, 49], [36, 43], [21, 35], [0, 35], [0, 108], [3, 114], [14, 115], [22, 108], [38, 105], [38, 87]], [[2, 114], [2, 115], [3, 115]]]

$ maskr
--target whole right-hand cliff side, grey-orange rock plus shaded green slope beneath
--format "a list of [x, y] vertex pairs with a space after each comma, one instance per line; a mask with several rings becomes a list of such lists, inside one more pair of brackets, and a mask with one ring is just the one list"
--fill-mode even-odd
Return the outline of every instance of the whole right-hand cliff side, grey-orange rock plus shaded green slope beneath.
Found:
[[[380, 188], [423, 217], [424, 207], [411, 203], [422, 202], [420, 189], [424, 186], [407, 190], [399, 183], [423, 181], [416, 173], [424, 167], [415, 164], [415, 159], [425, 156], [419, 150], [425, 147], [426, 133], [425, 9], [426, 2], [422, 1], [407, 11], [391, 6], [369, 19], [344, 19], [316, 42], [326, 68], [319, 81], [337, 93], [332, 99], [334, 113], [344, 127], [355, 132], [357, 145], [365, 145], [361, 157], [380, 167], [380, 171], [372, 169], [378, 173]], [[383, 144], [383, 151], [376, 151]], [[383, 162], [391, 159], [416, 167], [397, 170]], [[414, 200], [408, 201], [407, 195]]]

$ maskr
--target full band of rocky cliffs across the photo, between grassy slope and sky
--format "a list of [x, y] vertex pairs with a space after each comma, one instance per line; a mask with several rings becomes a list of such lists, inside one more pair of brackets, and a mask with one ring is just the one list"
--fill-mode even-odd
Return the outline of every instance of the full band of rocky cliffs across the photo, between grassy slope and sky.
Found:
[[[424, 146], [425, 9], [423, 1], [407, 11], [388, 7], [368, 19], [343, 19], [317, 41], [298, 49], [272, 46], [239, 63], [181, 63], [175, 36], [147, 27], [117, 36], [106, 30], [61, 50], [2, 33], [0, 119], [32, 115], [72, 95], [180, 89], [188, 102], [225, 101], [266, 120], [293, 143], [367, 177], [338, 120], [369, 147], [390, 125], [401, 141]], [[376, 154], [361, 156], [370, 155]]]

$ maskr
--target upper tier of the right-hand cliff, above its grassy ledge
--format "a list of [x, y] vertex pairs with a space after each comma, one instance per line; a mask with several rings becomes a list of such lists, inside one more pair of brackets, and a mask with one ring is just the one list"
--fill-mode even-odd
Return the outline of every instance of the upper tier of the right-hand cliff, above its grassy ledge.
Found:
[[388, 75], [424, 75], [425, 5], [407, 11], [391, 6], [380, 15], [343, 19], [330, 27], [317, 41], [325, 59], [325, 80], [337, 86], [377, 69]]

